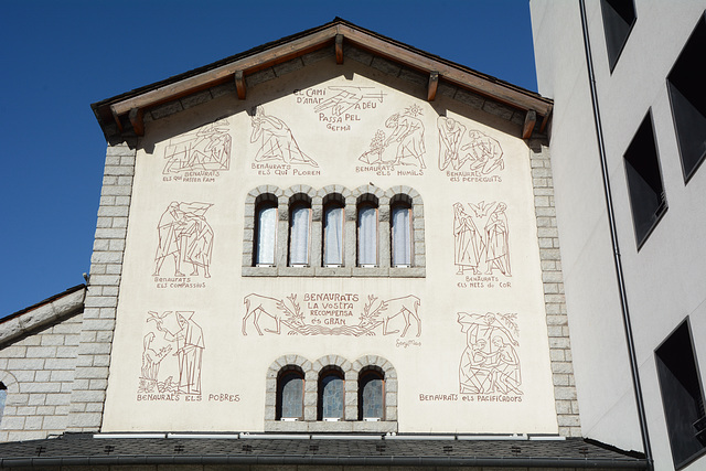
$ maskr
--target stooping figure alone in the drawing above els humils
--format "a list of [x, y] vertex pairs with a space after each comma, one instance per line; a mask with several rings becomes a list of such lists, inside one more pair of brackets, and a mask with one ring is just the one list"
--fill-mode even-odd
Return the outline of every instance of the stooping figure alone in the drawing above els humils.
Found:
[[426, 148], [424, 144], [424, 124], [417, 118], [421, 114], [421, 109], [411, 106], [404, 114], [396, 113], [385, 121], [385, 127], [393, 129], [393, 133], [385, 141], [385, 146], [392, 142], [397, 144], [397, 153], [395, 156], [395, 165], [409, 165], [403, 162], [403, 159], [414, 158], [419, 162], [420, 169], [426, 169], [424, 163], [424, 153]]

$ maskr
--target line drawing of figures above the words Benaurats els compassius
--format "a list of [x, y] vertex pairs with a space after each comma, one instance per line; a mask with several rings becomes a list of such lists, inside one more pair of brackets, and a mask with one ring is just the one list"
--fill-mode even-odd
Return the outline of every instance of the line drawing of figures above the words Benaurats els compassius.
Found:
[[199, 267], [204, 277], [210, 278], [211, 254], [213, 249], [213, 229], [206, 222], [205, 212], [211, 203], [179, 203], [172, 201], [162, 213], [157, 225], [159, 245], [154, 256], [154, 272], [159, 276], [170, 255], [174, 259], [174, 276], [184, 277], [182, 263], [192, 265], [191, 276], [199, 276]]

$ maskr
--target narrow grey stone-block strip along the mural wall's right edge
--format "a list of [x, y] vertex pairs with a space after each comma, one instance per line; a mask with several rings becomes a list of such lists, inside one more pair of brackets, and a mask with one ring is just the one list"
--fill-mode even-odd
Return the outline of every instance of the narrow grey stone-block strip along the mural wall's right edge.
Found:
[[539, 139], [530, 140], [527, 144], [530, 146], [532, 165], [532, 186], [537, 216], [544, 304], [547, 315], [549, 357], [559, 435], [580, 437], [581, 427], [576, 398], [576, 383], [574, 382], [574, 364], [571, 363], [571, 343], [564, 296], [564, 275], [554, 207], [554, 182], [549, 149]]

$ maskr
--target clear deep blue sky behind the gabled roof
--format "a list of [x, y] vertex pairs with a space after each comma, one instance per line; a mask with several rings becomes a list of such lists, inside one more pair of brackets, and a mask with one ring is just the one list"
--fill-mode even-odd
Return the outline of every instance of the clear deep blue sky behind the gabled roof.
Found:
[[90, 104], [340, 17], [536, 90], [528, 0], [6, 0], [0, 317], [84, 281], [106, 142]]

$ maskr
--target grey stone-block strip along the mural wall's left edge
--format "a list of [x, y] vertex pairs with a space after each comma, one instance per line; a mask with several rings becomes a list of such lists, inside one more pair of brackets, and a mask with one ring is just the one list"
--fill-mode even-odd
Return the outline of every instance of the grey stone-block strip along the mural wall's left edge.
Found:
[[135, 142], [124, 142], [106, 154], [68, 431], [97, 431], [103, 421], [136, 153]]

